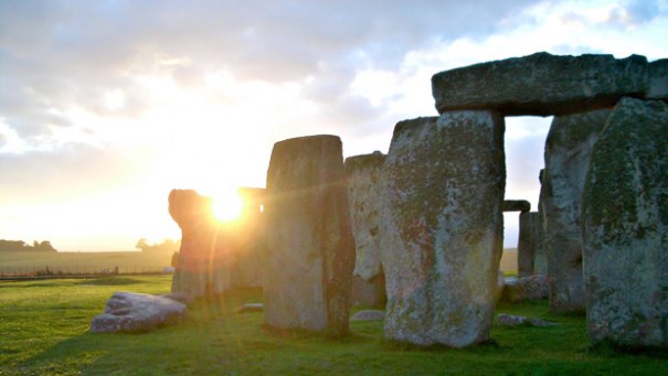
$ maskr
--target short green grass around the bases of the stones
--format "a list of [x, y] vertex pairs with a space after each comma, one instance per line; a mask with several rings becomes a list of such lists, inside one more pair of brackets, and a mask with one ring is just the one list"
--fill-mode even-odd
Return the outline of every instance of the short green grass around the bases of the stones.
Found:
[[330, 339], [263, 329], [263, 313], [234, 313], [259, 291], [200, 301], [177, 326], [145, 334], [91, 334], [114, 291], [165, 293], [169, 276], [0, 282], [1, 375], [611, 375], [668, 374], [649, 355], [589, 351], [584, 318], [553, 315], [545, 301], [500, 305], [556, 327], [492, 327], [492, 344], [465, 350], [384, 342], [382, 322], [352, 322]]

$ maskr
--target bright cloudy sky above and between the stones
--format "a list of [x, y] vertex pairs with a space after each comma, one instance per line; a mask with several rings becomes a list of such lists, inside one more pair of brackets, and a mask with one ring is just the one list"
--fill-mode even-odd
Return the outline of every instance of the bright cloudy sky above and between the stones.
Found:
[[[275, 142], [388, 152], [435, 73], [547, 51], [668, 57], [668, 0], [0, 0], [0, 238], [180, 238], [171, 189], [265, 186]], [[507, 198], [537, 208], [551, 118], [506, 119]], [[506, 216], [517, 245], [517, 214]]]

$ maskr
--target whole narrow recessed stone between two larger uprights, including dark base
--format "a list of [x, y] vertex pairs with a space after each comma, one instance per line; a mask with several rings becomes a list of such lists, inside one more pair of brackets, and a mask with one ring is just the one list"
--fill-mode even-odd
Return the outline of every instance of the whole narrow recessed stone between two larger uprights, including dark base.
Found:
[[352, 304], [385, 305], [385, 278], [381, 266], [381, 173], [385, 155], [380, 151], [346, 159], [348, 203], [356, 244]]

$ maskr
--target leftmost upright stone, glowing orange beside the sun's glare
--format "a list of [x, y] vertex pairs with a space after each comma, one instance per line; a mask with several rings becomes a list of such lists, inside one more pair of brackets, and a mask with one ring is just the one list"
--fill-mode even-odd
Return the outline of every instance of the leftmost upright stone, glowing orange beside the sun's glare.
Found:
[[199, 298], [229, 290], [229, 236], [213, 219], [211, 198], [192, 190], [172, 190], [169, 214], [181, 228], [172, 292]]

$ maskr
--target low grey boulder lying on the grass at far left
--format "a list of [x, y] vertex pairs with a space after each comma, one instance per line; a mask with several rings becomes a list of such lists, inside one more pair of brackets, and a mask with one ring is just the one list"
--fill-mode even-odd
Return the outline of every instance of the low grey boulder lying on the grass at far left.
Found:
[[105, 313], [91, 322], [92, 333], [145, 332], [184, 318], [184, 304], [163, 297], [135, 292], [115, 292]]

